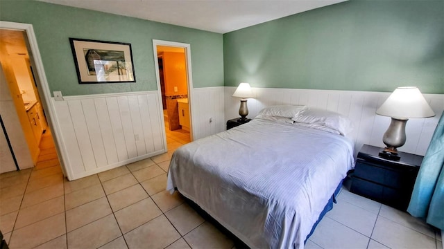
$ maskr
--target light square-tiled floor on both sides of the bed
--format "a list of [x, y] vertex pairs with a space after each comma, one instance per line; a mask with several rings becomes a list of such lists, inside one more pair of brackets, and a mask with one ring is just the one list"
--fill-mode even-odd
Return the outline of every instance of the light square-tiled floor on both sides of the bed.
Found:
[[[63, 178], [53, 148], [42, 150], [34, 169], [1, 174], [0, 230], [10, 248], [233, 248], [177, 193], [164, 191], [171, 154], [187, 142], [176, 133], [167, 130], [166, 154], [76, 181]], [[437, 249], [441, 240], [409, 214], [343, 188], [305, 248]]]

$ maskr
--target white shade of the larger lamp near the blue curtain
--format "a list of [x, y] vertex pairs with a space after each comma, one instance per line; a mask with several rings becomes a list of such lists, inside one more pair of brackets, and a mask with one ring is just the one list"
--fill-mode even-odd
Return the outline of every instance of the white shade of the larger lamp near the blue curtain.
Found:
[[376, 113], [400, 120], [435, 116], [434, 111], [416, 86], [395, 89]]

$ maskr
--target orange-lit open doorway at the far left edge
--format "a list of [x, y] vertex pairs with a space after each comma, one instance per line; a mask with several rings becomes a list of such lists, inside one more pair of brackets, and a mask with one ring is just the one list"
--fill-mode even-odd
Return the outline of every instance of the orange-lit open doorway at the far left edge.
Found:
[[0, 112], [5, 124], [2, 132], [9, 144], [2, 156], [13, 159], [7, 160], [8, 165], [2, 163], [0, 173], [33, 166], [35, 169], [58, 167], [60, 170], [26, 39], [23, 30], [0, 28], [0, 83], [3, 91]]

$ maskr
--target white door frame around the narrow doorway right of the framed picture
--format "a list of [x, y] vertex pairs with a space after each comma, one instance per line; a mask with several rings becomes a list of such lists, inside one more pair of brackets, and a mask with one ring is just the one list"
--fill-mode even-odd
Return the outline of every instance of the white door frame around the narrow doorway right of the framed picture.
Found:
[[[154, 53], [154, 65], [155, 65], [155, 78], [157, 81], [157, 93], [159, 98], [159, 104], [160, 104], [160, 113], [163, 113], [162, 111], [162, 93], [160, 91], [160, 75], [159, 75], [159, 62], [157, 61], [157, 46], [171, 46], [171, 47], [177, 47], [177, 48], [185, 48], [185, 59], [187, 61], [187, 87], [188, 87], [188, 107], [189, 107], [189, 136], [191, 138], [191, 141], [194, 140], [194, 118], [193, 118], [193, 101], [192, 101], [192, 90], [193, 90], [193, 74], [191, 71], [191, 45], [185, 44], [181, 42], [169, 42], [169, 41], [163, 41], [159, 39], [153, 39], [153, 53]], [[164, 118], [161, 118], [162, 125], [165, 126]], [[164, 143], [165, 148], [167, 148], [167, 135], [166, 132], [164, 132]]]

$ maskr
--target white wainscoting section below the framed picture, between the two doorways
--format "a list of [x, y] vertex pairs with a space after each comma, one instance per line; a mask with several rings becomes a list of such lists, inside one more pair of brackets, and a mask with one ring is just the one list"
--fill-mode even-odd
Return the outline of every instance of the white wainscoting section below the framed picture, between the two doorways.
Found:
[[147, 91], [52, 99], [69, 180], [167, 151], [158, 98]]

